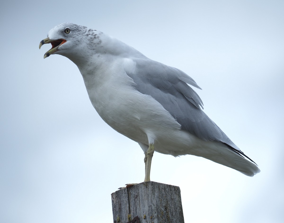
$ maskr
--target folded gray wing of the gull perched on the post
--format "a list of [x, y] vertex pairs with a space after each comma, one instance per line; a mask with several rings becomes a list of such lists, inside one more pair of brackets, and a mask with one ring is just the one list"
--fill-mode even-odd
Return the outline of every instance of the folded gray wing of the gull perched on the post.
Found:
[[179, 69], [150, 59], [135, 59], [134, 62], [136, 73], [126, 73], [135, 82], [136, 89], [157, 100], [178, 121], [181, 129], [204, 141], [220, 141], [241, 152], [201, 110], [201, 98], [188, 84], [201, 88], [191, 77]]

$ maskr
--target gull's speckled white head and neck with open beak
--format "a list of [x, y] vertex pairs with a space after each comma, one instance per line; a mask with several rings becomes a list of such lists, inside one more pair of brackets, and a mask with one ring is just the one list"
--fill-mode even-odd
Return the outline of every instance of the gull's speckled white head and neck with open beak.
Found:
[[112, 36], [73, 23], [62, 23], [52, 28], [47, 38], [39, 43], [39, 49], [47, 43], [52, 47], [43, 58], [51, 54], [60, 54], [81, 67], [86, 63], [95, 63], [104, 55], [105, 60], [111, 60], [115, 56], [146, 58], [136, 49]]

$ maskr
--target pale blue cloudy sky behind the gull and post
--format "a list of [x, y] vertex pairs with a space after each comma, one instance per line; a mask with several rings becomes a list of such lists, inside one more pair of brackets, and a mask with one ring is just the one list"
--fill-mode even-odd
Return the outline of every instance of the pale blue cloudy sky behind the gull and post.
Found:
[[38, 49], [72, 22], [181, 69], [205, 113], [261, 172], [154, 153], [185, 222], [283, 222], [284, 1], [2, 1], [0, 222], [113, 222], [110, 194], [144, 180], [140, 146], [109, 127], [69, 59]]

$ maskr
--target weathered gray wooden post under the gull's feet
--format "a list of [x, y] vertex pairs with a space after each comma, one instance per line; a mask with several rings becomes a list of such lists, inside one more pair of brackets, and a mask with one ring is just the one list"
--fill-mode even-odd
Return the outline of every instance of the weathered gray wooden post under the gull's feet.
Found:
[[114, 223], [184, 223], [177, 186], [143, 182], [112, 193], [111, 200]]

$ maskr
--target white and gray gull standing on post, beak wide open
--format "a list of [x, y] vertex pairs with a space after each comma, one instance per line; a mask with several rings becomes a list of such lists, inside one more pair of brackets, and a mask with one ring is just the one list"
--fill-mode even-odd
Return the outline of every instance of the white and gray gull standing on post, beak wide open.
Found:
[[150, 181], [154, 151], [201, 156], [248, 176], [260, 172], [203, 112], [201, 98], [189, 85], [199, 86], [181, 70], [153, 61], [103, 32], [72, 23], [51, 29], [39, 48], [47, 43], [52, 48], [44, 58], [60, 54], [73, 61], [101, 118], [141, 146], [144, 181]]

